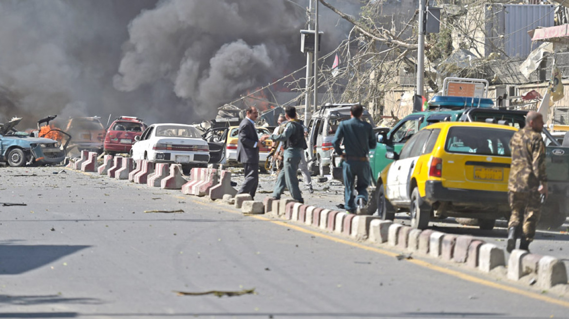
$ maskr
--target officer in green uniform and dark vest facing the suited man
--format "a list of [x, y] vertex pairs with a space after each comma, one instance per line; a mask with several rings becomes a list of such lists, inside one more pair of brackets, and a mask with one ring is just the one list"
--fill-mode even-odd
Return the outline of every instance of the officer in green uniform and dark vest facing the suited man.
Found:
[[304, 203], [302, 194], [300, 194], [300, 188], [298, 187], [298, 178], [296, 177], [296, 170], [298, 170], [302, 152], [307, 148], [306, 140], [304, 140], [304, 128], [300, 121], [296, 119], [296, 109], [294, 107], [284, 107], [284, 116], [288, 121], [284, 127], [284, 131], [281, 134], [273, 134], [270, 136], [270, 139], [273, 141], [284, 141], [284, 167], [277, 177], [277, 183], [273, 190], [273, 198], [281, 198], [284, 187], [286, 187], [292, 199]]

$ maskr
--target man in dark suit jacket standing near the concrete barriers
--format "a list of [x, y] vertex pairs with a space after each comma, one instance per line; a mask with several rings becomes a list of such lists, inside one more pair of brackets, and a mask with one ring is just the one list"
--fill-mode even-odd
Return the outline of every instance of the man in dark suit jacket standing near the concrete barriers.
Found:
[[248, 107], [246, 117], [239, 124], [239, 140], [237, 142], [237, 161], [243, 164], [245, 169], [245, 181], [237, 194], [249, 194], [255, 198], [257, 185], [259, 184], [259, 142], [264, 142], [267, 137], [257, 136], [255, 120], [259, 111], [254, 106]]

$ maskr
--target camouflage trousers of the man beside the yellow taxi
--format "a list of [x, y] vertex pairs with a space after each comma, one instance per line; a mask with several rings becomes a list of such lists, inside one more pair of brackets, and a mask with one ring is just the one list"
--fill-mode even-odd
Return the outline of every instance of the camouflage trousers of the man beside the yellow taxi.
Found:
[[541, 215], [541, 202], [537, 190], [530, 192], [508, 192], [508, 202], [512, 209], [512, 215], [508, 228], [515, 227], [519, 232], [520, 226], [522, 237], [527, 241], [533, 241], [535, 227]]

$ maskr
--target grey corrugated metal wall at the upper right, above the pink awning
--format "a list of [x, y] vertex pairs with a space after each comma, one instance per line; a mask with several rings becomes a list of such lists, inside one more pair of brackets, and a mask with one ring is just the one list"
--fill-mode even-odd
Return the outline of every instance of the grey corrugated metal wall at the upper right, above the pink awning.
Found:
[[[555, 6], [553, 5], [486, 5], [485, 55], [500, 52], [509, 57], [527, 57], [540, 43], [531, 43], [527, 31], [537, 27], [554, 25]], [[503, 37], [501, 36], [503, 35]]]

